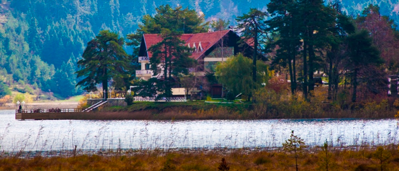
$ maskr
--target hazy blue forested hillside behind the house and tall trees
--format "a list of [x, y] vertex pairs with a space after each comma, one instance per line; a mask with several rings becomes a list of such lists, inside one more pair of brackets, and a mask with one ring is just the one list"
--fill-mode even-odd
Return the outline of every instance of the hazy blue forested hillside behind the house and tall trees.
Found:
[[[59, 98], [83, 93], [75, 85], [77, 61], [86, 43], [100, 30], [121, 37], [135, 33], [142, 16], [154, 16], [156, 8], [169, 4], [204, 15], [205, 21], [222, 19], [237, 25], [236, 18], [250, 8], [267, 11], [269, 0], [1, 0], [0, 82], [3, 90], [30, 94], [54, 94]], [[328, 3], [328, 2], [325, 2]], [[382, 0], [342, 1], [342, 11], [358, 16], [370, 3], [396, 24], [399, 3]], [[394, 26], [396, 27], [396, 25]], [[128, 40], [127, 40], [128, 44]], [[124, 45], [128, 55], [134, 47]], [[6, 92], [6, 91], [3, 91]], [[9, 91], [7, 91], [9, 92]], [[10, 93], [8, 93], [10, 94]]]

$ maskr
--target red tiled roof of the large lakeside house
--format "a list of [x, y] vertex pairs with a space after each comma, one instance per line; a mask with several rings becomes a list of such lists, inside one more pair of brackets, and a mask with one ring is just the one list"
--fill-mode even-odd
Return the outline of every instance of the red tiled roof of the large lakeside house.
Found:
[[[226, 35], [230, 30], [221, 30], [208, 33], [196, 33], [196, 34], [182, 34], [180, 39], [185, 41], [184, 45], [190, 43], [190, 47], [193, 47], [194, 43], [196, 49], [199, 48], [199, 43], [201, 42], [202, 51], [193, 52], [190, 56], [193, 59], [199, 59], [209, 48], [215, 45], [224, 35]], [[162, 38], [158, 34], [144, 34], [144, 41], [146, 44], [146, 50], [148, 50], [152, 45], [162, 41]], [[148, 57], [152, 57], [152, 53], [147, 51]]]

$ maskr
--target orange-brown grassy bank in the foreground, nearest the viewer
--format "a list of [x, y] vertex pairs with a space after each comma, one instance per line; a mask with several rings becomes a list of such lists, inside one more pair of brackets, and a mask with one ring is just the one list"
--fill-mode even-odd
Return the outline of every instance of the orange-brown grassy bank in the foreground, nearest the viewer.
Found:
[[[225, 158], [225, 164], [221, 159]], [[382, 162], [381, 162], [382, 161]], [[326, 166], [328, 165], [328, 167]], [[2, 157], [4, 171], [288, 171], [295, 170], [295, 157], [282, 149], [125, 151], [93, 155], [20, 158]], [[298, 155], [300, 171], [398, 171], [396, 145], [358, 150], [307, 149]]]

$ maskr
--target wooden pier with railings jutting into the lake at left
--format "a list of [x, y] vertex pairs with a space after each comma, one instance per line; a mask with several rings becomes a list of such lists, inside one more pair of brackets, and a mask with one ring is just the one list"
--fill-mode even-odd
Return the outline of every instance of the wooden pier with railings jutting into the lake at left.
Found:
[[15, 119], [17, 120], [57, 120], [67, 119], [71, 114], [82, 113], [82, 109], [17, 109]]

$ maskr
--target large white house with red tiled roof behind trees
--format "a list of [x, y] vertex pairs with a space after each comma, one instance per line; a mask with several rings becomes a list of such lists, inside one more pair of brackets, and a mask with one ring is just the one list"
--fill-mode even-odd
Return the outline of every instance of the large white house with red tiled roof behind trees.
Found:
[[[232, 55], [243, 53], [245, 56], [251, 57], [253, 54], [253, 48], [247, 43], [240, 45], [241, 37], [231, 30], [182, 34], [180, 39], [185, 42], [185, 46], [193, 49], [190, 57], [200, 63], [201, 69], [196, 72], [202, 75], [205, 75], [205, 72], [215, 72], [216, 63], [226, 61]], [[141, 69], [136, 70], [136, 77], [148, 80], [151, 77], [163, 75], [163, 71], [159, 75], [153, 75], [152, 70], [150, 70], [152, 53], [148, 51], [152, 45], [160, 41], [162, 41], [162, 37], [158, 34], [143, 35], [138, 54], [138, 62], [141, 64]], [[263, 55], [261, 57], [266, 59]], [[172, 92], [174, 96], [181, 96], [184, 95], [185, 90], [184, 88], [176, 87], [172, 88]], [[221, 85], [212, 85], [211, 92], [213, 96], [220, 96], [222, 93]]]

